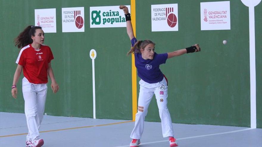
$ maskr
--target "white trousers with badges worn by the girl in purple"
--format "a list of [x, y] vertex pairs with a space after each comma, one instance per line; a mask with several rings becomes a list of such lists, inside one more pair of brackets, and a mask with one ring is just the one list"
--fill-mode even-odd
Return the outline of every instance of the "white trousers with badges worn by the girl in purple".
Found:
[[172, 121], [167, 108], [167, 81], [165, 78], [158, 83], [147, 83], [144, 80], [139, 81], [140, 91], [138, 97], [138, 112], [135, 115], [135, 127], [130, 135], [132, 139], [140, 139], [144, 130], [144, 121], [148, 106], [155, 94], [159, 116], [162, 124], [163, 137], [174, 137]]

